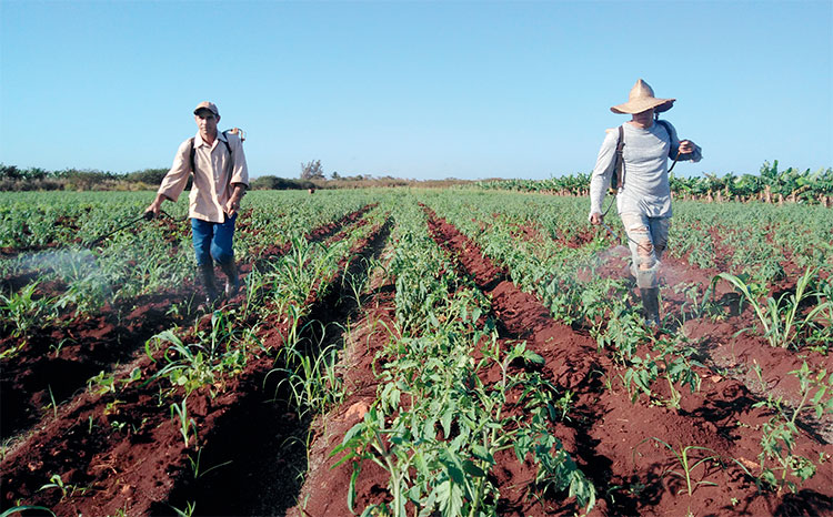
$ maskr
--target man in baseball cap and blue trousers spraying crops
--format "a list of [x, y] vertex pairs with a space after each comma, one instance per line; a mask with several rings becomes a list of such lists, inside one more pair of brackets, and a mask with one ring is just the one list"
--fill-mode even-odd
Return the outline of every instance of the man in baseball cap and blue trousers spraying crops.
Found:
[[213, 262], [225, 273], [225, 296], [233, 296], [240, 288], [232, 240], [240, 200], [249, 186], [249, 169], [240, 138], [217, 131], [220, 111], [213, 102], [200, 102], [193, 114], [199, 131], [180, 144], [145, 212], [158, 215], [164, 200], [175, 202], [193, 174], [189, 217], [205, 304], [211, 307], [219, 298]]

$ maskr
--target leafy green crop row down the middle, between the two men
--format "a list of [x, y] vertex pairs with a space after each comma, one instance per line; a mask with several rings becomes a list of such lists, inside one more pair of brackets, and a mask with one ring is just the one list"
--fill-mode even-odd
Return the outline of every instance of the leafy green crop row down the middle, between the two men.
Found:
[[375, 355], [375, 398], [331, 452], [334, 467], [353, 465], [349, 508], [359, 506], [357, 484], [373, 464], [385, 473], [388, 496], [361, 494], [362, 515], [407, 515], [409, 507], [500, 514], [505, 495], [493, 474], [506, 449], [535, 465], [525, 489], [569, 490], [592, 507], [592, 486], [550, 432], [563, 394], [534, 368], [518, 367], [541, 358], [522, 342], [498, 339], [488, 300], [426, 235], [414, 204], [398, 204], [393, 216], [385, 271], [395, 311]]

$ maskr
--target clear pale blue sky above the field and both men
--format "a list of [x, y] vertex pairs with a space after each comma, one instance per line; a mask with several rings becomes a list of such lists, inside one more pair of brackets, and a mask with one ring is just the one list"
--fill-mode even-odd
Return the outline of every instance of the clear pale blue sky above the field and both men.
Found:
[[0, 162], [168, 168], [214, 101], [252, 176], [590, 172], [643, 78], [675, 172], [833, 166], [833, 1], [0, 0]]

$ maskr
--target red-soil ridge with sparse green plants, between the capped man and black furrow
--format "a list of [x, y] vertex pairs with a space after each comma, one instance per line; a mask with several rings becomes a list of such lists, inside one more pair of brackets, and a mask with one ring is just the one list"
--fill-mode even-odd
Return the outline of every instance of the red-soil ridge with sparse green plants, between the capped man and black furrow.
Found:
[[[213, 423], [244, 395], [241, 386], [259, 383], [274, 351], [291, 342], [310, 303], [323, 296], [350, 258], [348, 252], [378, 231], [380, 215], [369, 214], [370, 224], [354, 225], [327, 246], [294, 237], [283, 255], [255, 264], [233, 306], [198, 320], [192, 328], [159, 334], [130, 364], [91, 378], [87, 394], [56, 406], [33, 433], [4, 450], [3, 506], [34, 501], [58, 511], [147, 511], [160, 497], [159, 486], [170, 489], [175, 473], [189, 463], [199, 468], [202, 440]], [[145, 440], [158, 448], [140, 450]], [[147, 457], [131, 465], [134, 455]], [[101, 462], [117, 470], [103, 476]]]

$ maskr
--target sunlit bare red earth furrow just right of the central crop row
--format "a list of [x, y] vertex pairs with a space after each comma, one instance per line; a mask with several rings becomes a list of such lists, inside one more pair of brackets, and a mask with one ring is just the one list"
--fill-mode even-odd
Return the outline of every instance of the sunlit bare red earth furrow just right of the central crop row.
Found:
[[[701, 391], [682, 392], [681, 409], [631, 404], [621, 384], [611, 388], [602, 378], [623, 374], [595, 343], [571, 327], [554, 323], [534, 296], [508, 282], [504, 271], [483, 255], [478, 245], [453, 225], [431, 215], [430, 232], [443, 247], [454, 253], [461, 272], [471, 275], [492, 298], [492, 306], [509, 335], [528, 339], [531, 348], [546, 359], [544, 369], [563, 389], [578, 398], [572, 419], [560, 437], [594, 481], [602, 500], [593, 515], [827, 515], [833, 513], [833, 469], [823, 464], [815, 477], [797, 494], [762, 493], [732, 462], [757, 474], [760, 428], [769, 415], [752, 405], [757, 397], [735, 379], [702, 371]], [[766, 352], [770, 352], [769, 348]], [[655, 386], [660, 396], [663, 386]], [[706, 462], [694, 470], [700, 485], [690, 497], [680, 491], [681, 479], [668, 475], [681, 470], [673, 454], [653, 438], [673, 447], [707, 447], [722, 458]], [[817, 433], [802, 434], [796, 453], [809, 458], [833, 454]], [[710, 453], [712, 454], [712, 453]], [[530, 506], [516, 514], [550, 515], [543, 506]], [[558, 510], [555, 511], [558, 513]]]

